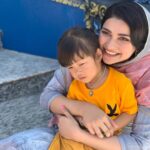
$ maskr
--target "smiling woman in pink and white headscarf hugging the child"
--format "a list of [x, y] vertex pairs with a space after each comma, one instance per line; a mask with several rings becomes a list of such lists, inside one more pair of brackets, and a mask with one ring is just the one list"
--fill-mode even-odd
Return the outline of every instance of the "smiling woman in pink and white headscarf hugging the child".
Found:
[[[67, 70], [58, 70], [42, 93], [41, 104], [48, 106], [54, 113], [66, 115], [59, 118], [58, 126], [62, 136], [95, 149], [112, 147], [115, 150], [150, 149], [149, 21], [149, 12], [137, 3], [116, 3], [107, 9], [99, 36], [104, 63], [113, 65], [125, 73], [134, 84], [139, 112], [133, 123], [132, 132], [104, 139], [91, 135], [101, 131], [106, 135], [112, 135], [114, 130], [112, 121], [104, 112], [92, 105], [68, 103], [61, 94], [67, 91], [71, 77]], [[80, 116], [91, 134], [80, 129], [71, 115], [66, 110], [60, 109], [62, 105], [72, 115]], [[76, 106], [73, 107], [74, 105]], [[76, 134], [73, 134], [74, 132]]]

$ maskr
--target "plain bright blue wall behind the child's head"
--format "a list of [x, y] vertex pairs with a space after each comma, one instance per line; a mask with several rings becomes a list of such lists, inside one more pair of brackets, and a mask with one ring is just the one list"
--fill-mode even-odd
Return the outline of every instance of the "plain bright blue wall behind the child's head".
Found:
[[16, 51], [56, 58], [61, 34], [83, 19], [84, 11], [51, 0], [0, 0], [3, 47]]

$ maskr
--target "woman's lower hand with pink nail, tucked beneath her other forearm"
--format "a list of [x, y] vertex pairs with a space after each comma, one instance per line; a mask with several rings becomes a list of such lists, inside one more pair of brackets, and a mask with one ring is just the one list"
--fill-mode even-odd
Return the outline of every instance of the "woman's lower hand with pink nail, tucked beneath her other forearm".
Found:
[[58, 116], [58, 128], [60, 134], [66, 139], [77, 140], [80, 136], [80, 127], [75, 118], [64, 109], [64, 116]]

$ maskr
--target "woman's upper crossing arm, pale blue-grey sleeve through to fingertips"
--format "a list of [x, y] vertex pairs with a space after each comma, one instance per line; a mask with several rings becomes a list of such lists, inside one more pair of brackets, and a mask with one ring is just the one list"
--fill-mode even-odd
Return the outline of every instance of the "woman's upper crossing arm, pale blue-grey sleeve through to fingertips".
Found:
[[107, 132], [106, 135], [112, 135], [114, 130], [112, 122], [97, 106], [76, 100], [69, 101], [63, 96], [67, 93], [71, 81], [72, 78], [67, 69], [56, 70], [53, 78], [41, 94], [41, 105], [56, 114], [63, 114], [60, 108], [65, 106], [72, 115], [80, 116], [83, 119], [89, 132], [100, 135], [100, 129], [102, 129], [103, 132]]

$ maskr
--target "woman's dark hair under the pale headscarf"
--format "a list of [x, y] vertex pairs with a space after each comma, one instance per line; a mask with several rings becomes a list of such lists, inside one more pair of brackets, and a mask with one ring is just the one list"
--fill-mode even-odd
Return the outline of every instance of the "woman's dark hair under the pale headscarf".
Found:
[[135, 2], [115, 3], [106, 10], [101, 25], [112, 17], [128, 24], [131, 42], [136, 48], [136, 53], [139, 53], [144, 48], [148, 35], [148, 22], [142, 7]]

